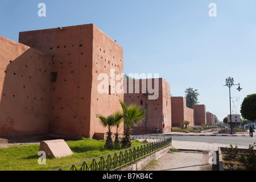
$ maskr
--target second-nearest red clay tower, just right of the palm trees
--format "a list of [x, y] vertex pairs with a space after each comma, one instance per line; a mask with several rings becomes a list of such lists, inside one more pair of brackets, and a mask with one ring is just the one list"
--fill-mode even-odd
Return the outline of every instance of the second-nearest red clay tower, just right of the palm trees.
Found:
[[[146, 98], [142, 92], [143, 81], [152, 80], [152, 88], [155, 88], [155, 79], [141, 79], [130, 80], [133, 83], [133, 90], [129, 90], [129, 81], [127, 81], [127, 92], [125, 93], [125, 104], [127, 106], [135, 104], [140, 106], [143, 110], [146, 109], [147, 104], [147, 121], [143, 122], [141, 126], [134, 127], [134, 133], [151, 133], [152, 129], [160, 129], [161, 133], [171, 131], [171, 95], [170, 85], [168, 82], [159, 78], [159, 94], [155, 99]], [[139, 83], [139, 93], [135, 93], [135, 82]], [[151, 87], [151, 86], [150, 86]], [[146, 86], [148, 88], [148, 85]], [[149, 93], [149, 95], [151, 95]], [[147, 103], [146, 103], [147, 102]]]

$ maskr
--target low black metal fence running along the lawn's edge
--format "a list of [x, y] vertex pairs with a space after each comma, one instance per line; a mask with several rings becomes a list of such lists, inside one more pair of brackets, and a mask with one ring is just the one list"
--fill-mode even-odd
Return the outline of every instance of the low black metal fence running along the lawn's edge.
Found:
[[142, 144], [140, 146], [127, 148], [125, 150], [98, 156], [68, 166], [53, 169], [52, 171], [114, 171], [131, 164], [139, 159], [168, 147], [172, 144], [172, 138], [166, 137], [155, 140], [155, 142]]

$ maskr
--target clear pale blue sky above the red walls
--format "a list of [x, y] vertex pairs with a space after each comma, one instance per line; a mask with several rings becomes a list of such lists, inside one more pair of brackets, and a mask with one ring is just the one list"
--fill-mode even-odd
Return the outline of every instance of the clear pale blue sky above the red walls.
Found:
[[[41, 2], [46, 17], [38, 16]], [[255, 0], [1, 0], [0, 36], [18, 42], [20, 31], [93, 23], [123, 47], [124, 73], [159, 73], [172, 96], [198, 89], [200, 104], [222, 121], [229, 114], [225, 78], [243, 88], [232, 87], [238, 113], [256, 93], [255, 7]]]

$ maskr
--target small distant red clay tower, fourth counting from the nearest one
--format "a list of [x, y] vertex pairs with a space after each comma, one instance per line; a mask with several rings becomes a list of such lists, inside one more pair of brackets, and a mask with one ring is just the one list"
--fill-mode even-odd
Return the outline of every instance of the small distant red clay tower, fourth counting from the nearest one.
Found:
[[207, 123], [206, 106], [205, 105], [193, 105], [195, 113], [195, 125], [201, 125]]

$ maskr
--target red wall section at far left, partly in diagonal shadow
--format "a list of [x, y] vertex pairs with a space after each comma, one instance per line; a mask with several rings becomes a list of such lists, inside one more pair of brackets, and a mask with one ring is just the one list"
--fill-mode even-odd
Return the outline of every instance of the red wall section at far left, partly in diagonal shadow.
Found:
[[0, 51], [0, 135], [46, 134], [50, 116], [51, 57], [18, 43], [4, 42]]

